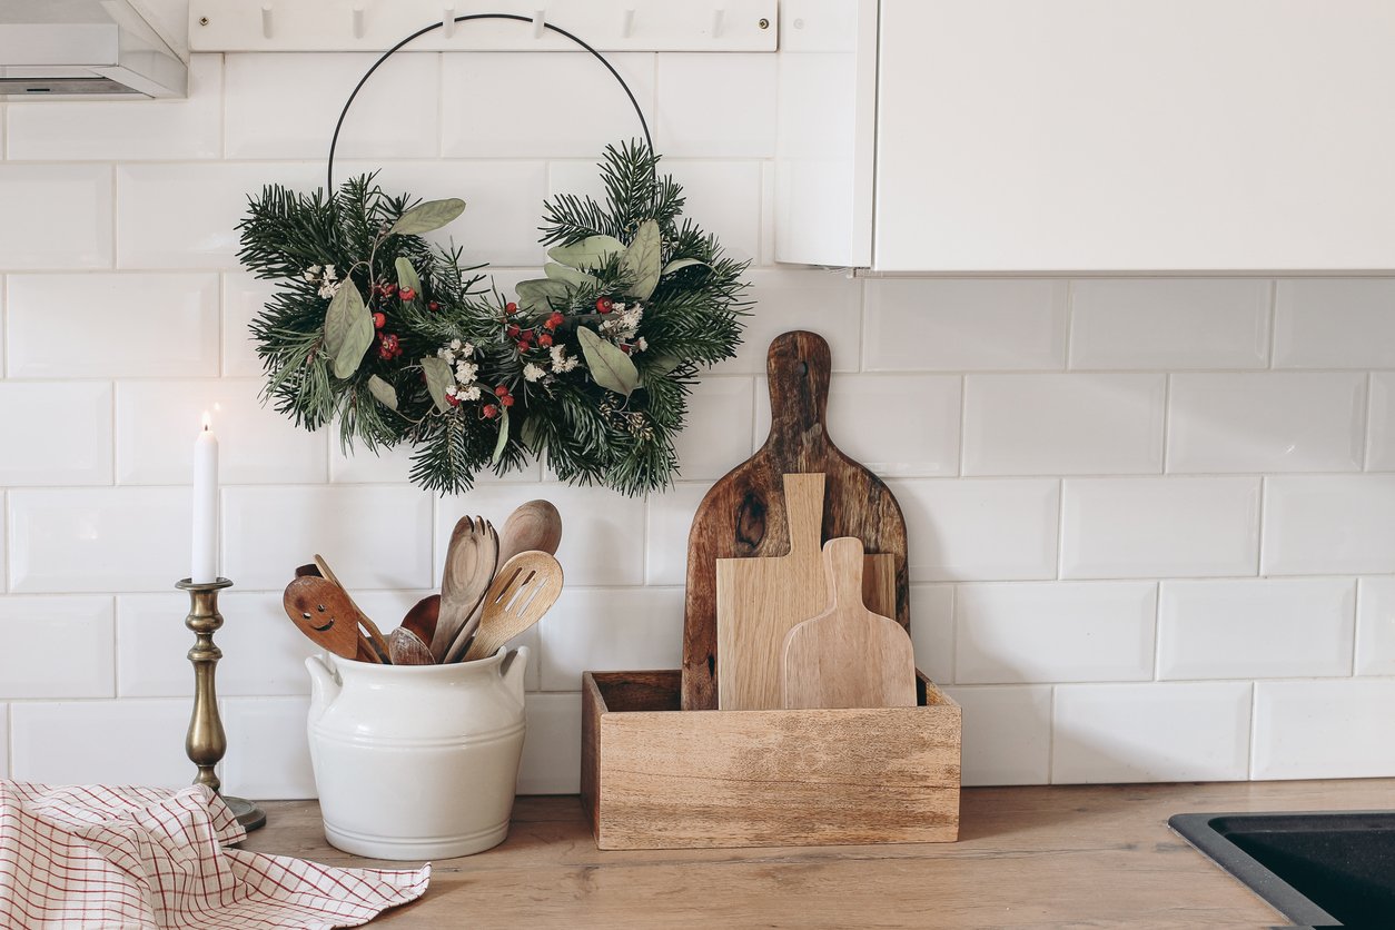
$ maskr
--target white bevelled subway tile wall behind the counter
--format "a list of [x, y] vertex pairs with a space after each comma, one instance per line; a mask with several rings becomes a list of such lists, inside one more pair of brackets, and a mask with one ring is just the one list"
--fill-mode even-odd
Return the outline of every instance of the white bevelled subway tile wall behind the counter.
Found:
[[[191, 778], [173, 583], [211, 409], [229, 791], [314, 793], [312, 650], [280, 609], [297, 565], [322, 552], [391, 623], [462, 514], [538, 496], [568, 588], [520, 639], [519, 789], [576, 791], [582, 672], [677, 666], [692, 513], [764, 441], [770, 339], [809, 329], [830, 435], [905, 512], [912, 640], [964, 706], [965, 784], [1395, 775], [1370, 738], [1395, 699], [1395, 283], [774, 266], [773, 59], [621, 54], [688, 215], [755, 262], [745, 344], [693, 392], [665, 494], [534, 466], [435, 498], [405, 452], [264, 409], [247, 336], [271, 286], [237, 266], [246, 197], [324, 184], [370, 60], [202, 54], [188, 100], [0, 106], [0, 215], [24, 218], [0, 229], [0, 774]], [[597, 103], [540, 123], [558, 85]], [[336, 180], [463, 197], [449, 236], [512, 287], [543, 261], [543, 198], [597, 192], [601, 144], [636, 134], [586, 56], [405, 54], [354, 105]]]

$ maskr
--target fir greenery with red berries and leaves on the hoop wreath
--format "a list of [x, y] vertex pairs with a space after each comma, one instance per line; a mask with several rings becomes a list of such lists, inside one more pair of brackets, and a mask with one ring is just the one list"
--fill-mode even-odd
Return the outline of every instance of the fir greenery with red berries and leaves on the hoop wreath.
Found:
[[410, 443], [412, 481], [441, 494], [544, 457], [562, 481], [626, 495], [667, 487], [699, 369], [741, 342], [748, 262], [682, 219], [647, 145], [608, 146], [605, 202], [544, 204], [545, 277], [497, 290], [424, 233], [459, 199], [269, 185], [239, 226], [241, 262], [279, 287], [252, 322], [264, 399], [345, 449]]

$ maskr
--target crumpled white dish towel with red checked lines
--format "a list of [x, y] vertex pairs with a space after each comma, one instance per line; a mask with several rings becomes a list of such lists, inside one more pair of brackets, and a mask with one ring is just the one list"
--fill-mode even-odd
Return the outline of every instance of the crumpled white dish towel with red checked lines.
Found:
[[329, 930], [420, 898], [417, 870], [333, 869], [226, 849], [247, 835], [204, 785], [0, 781], [0, 926]]

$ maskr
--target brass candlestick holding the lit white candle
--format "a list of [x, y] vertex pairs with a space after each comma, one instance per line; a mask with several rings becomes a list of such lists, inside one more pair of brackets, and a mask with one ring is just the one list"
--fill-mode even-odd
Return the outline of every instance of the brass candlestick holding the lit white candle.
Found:
[[223, 650], [213, 646], [213, 633], [223, 626], [223, 615], [218, 612], [218, 593], [233, 583], [227, 579], [195, 584], [191, 579], [179, 581], [174, 587], [188, 591], [190, 608], [184, 626], [194, 632], [194, 647], [188, 661], [194, 664], [194, 715], [188, 721], [188, 736], [184, 738], [184, 752], [191, 763], [198, 765], [195, 785], [208, 785], [223, 799], [237, 823], [248, 831], [266, 823], [261, 807], [241, 798], [223, 795], [222, 782], [213, 774], [213, 767], [227, 752], [227, 735], [218, 715], [218, 690], [213, 686], [213, 672]]

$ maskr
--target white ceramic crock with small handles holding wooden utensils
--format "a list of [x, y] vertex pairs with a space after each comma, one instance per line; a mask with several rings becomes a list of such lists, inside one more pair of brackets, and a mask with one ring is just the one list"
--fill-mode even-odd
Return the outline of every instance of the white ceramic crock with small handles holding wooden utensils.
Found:
[[307, 658], [325, 839], [375, 859], [446, 859], [504, 842], [527, 658], [527, 647], [448, 665]]

